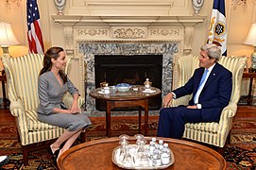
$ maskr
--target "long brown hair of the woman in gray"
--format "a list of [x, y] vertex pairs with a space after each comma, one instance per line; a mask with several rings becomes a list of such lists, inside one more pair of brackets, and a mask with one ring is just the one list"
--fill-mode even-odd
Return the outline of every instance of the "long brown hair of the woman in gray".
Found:
[[[58, 47], [58, 46], [53, 46], [45, 52], [44, 58], [43, 58], [43, 69], [40, 71], [39, 76], [41, 76], [41, 75], [43, 75], [43, 73], [51, 70], [52, 65], [53, 65], [51, 59], [58, 59], [60, 57], [61, 51], [64, 51], [63, 48]], [[60, 77], [63, 80], [63, 83], [66, 83], [67, 76], [65, 75], [65, 73], [62, 70], [60, 70], [59, 73], [60, 73]]]

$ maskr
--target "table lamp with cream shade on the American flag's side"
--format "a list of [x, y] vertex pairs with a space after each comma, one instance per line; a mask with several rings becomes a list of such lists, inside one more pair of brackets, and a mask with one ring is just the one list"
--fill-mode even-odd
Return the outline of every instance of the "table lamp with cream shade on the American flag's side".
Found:
[[9, 23], [0, 22], [0, 46], [3, 49], [3, 56], [9, 56], [9, 45], [19, 44]]

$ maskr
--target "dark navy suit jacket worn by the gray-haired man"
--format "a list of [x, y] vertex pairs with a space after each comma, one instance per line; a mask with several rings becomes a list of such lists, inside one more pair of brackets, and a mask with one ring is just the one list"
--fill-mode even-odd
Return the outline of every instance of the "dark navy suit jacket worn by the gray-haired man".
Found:
[[[179, 98], [181, 96], [193, 93], [193, 97], [189, 101], [189, 105], [195, 105], [194, 96], [203, 72], [204, 68], [196, 69], [194, 75], [184, 86], [173, 91], [173, 93], [176, 93], [176, 97]], [[202, 92], [200, 93], [198, 100], [198, 103], [202, 105], [201, 114], [203, 121], [219, 121], [221, 110], [223, 110], [223, 108], [229, 104], [231, 91], [231, 72], [219, 63], [216, 63], [213, 67], [211, 75], [208, 77], [204, 85]]]

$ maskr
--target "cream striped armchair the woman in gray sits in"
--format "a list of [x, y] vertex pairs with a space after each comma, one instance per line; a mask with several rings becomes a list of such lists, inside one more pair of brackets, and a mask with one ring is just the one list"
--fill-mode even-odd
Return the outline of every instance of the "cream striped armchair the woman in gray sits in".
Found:
[[[37, 119], [38, 76], [43, 68], [43, 55], [29, 54], [19, 58], [2, 58], [7, 75], [9, 110], [15, 116], [18, 135], [23, 149], [24, 164], [28, 164], [28, 152], [43, 147], [43, 141], [60, 137], [64, 128], [51, 126]], [[71, 59], [67, 59], [65, 73]], [[70, 106], [72, 95], [66, 94], [64, 103]], [[84, 102], [79, 99], [80, 106]], [[31, 145], [34, 144], [34, 145]], [[45, 146], [44, 146], [45, 147]]]

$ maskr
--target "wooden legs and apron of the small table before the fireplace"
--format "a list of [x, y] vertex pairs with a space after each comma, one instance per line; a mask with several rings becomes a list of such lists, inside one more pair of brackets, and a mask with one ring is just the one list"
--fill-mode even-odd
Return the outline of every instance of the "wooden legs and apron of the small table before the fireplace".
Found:
[[124, 100], [124, 101], [106, 101], [106, 135], [111, 137], [111, 110], [114, 108], [139, 107], [139, 133], [141, 133], [142, 108], [145, 110], [145, 136], [147, 135], [148, 123], [148, 99]]

